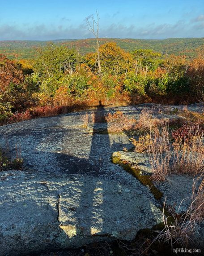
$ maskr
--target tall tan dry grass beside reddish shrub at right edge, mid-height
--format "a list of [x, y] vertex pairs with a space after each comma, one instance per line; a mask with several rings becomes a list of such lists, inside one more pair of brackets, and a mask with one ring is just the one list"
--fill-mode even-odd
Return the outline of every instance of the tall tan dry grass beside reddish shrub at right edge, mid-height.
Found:
[[204, 171], [203, 133], [200, 133], [200, 128], [193, 132], [192, 129], [188, 130], [189, 135], [184, 142], [179, 140], [173, 143], [173, 150], [169, 143], [169, 129], [162, 127], [155, 131], [153, 143], [148, 147], [152, 180], [164, 181], [173, 172], [196, 175]]

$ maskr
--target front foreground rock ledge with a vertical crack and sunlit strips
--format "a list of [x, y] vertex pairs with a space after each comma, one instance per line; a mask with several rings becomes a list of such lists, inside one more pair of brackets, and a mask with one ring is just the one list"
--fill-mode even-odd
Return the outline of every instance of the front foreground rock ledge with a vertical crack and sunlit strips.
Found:
[[[0, 255], [135, 238], [161, 222], [149, 190], [107, 178], [0, 173]], [[145, 202], [145, 203], [144, 203]]]

